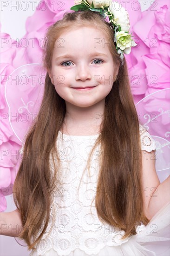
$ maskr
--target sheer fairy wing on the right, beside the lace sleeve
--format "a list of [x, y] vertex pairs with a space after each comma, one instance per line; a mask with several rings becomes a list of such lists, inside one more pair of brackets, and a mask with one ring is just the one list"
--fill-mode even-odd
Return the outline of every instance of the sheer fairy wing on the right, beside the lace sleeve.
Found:
[[[141, 126], [156, 143], [156, 171], [163, 182], [170, 170], [170, 89], [158, 90], [137, 102], [136, 109]], [[146, 132], [145, 132], [146, 134]], [[145, 142], [147, 143], [147, 142]], [[150, 143], [150, 141], [148, 141]]]

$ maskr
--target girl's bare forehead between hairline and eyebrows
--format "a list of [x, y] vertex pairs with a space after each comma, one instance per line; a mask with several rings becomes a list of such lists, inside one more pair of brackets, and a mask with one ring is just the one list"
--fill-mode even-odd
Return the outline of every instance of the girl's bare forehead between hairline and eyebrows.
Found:
[[54, 54], [64, 54], [65, 50], [71, 53], [97, 51], [109, 53], [111, 43], [99, 28], [78, 27], [73, 28], [55, 41]]

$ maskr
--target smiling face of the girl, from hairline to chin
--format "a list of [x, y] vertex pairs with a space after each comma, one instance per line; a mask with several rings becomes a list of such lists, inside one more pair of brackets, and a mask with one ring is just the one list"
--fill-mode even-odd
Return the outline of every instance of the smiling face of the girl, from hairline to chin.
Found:
[[56, 40], [48, 73], [66, 104], [90, 107], [110, 93], [118, 74], [110, 47], [104, 34], [92, 27], [65, 32]]

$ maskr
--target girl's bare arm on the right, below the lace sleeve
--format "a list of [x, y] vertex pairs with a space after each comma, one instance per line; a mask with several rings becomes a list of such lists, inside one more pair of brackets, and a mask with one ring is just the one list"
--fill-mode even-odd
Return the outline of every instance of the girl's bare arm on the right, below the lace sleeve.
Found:
[[170, 202], [170, 176], [160, 183], [157, 176], [155, 150], [142, 151], [142, 183], [144, 213], [150, 220], [167, 202]]

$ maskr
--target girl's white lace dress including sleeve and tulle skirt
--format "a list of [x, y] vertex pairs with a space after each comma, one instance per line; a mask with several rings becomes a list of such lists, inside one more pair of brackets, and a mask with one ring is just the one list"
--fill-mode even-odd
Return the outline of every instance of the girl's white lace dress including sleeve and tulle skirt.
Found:
[[[141, 125], [140, 135], [142, 150], [151, 152], [156, 149], [154, 139]], [[120, 240], [124, 234], [123, 230], [99, 221], [94, 206], [95, 200], [92, 203], [91, 214], [90, 205], [97, 192], [98, 157], [101, 154], [99, 148], [96, 148], [97, 151], [92, 160], [90, 176], [87, 177], [88, 173], [85, 173], [79, 192], [78, 185], [97, 136], [63, 134], [62, 141], [62, 133], [59, 132], [57, 146], [61, 150], [62, 187], [57, 188], [53, 194], [50, 222], [46, 233], [30, 255], [170, 255], [167, 235], [169, 203], [157, 212], [147, 226], [137, 226], [137, 235], [123, 241]], [[55, 219], [53, 226], [52, 218]]]

